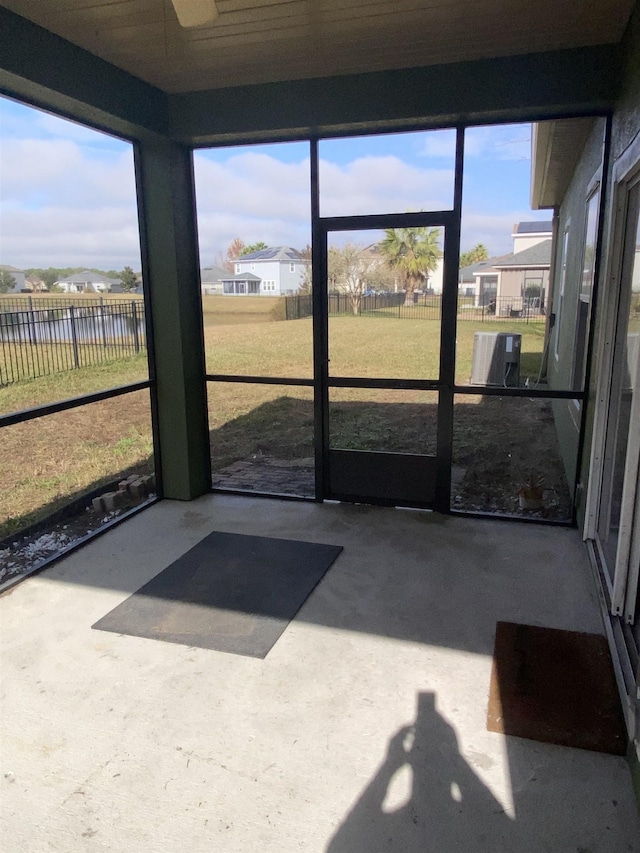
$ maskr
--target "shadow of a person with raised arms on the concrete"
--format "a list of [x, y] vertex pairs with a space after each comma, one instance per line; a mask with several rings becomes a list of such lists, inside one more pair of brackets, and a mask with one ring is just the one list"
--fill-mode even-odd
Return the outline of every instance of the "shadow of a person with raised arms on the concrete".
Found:
[[515, 820], [460, 755], [453, 728], [418, 694], [415, 723], [385, 759], [326, 853], [512, 853]]

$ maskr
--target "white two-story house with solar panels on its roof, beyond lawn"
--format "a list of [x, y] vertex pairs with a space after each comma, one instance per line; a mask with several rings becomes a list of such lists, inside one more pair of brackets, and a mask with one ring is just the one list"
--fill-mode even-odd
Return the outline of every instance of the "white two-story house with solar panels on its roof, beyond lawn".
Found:
[[[297, 293], [309, 266], [300, 252], [289, 246], [270, 246], [238, 258], [235, 276], [227, 276], [226, 294], [259, 293], [261, 296], [291, 296]], [[251, 274], [253, 278], [247, 276]], [[256, 279], [259, 285], [256, 285]], [[235, 289], [245, 282], [245, 290]], [[232, 289], [232, 286], [234, 289]], [[257, 290], [255, 289], [257, 286]], [[251, 288], [251, 289], [249, 289]]]

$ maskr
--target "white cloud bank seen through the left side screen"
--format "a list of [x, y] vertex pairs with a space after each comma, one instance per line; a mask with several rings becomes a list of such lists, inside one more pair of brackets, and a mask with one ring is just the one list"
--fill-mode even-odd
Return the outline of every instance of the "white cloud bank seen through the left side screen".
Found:
[[140, 268], [130, 145], [99, 150], [12, 136], [3, 140], [0, 170], [2, 263]]

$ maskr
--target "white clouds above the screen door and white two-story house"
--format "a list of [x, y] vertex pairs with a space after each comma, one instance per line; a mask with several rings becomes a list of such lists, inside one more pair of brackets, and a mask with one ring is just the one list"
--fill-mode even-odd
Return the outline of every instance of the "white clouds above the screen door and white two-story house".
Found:
[[[296, 248], [310, 242], [307, 157], [282, 162], [250, 151], [221, 162], [196, 152], [195, 174], [203, 263], [224, 253], [235, 237]], [[320, 162], [323, 216], [438, 210], [451, 207], [452, 196], [451, 170], [420, 169], [395, 156]]]

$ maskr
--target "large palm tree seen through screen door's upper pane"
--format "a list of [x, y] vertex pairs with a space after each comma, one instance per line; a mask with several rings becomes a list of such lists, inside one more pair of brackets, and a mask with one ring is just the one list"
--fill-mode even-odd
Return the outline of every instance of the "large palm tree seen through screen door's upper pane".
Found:
[[390, 267], [404, 278], [404, 299], [410, 302], [413, 291], [427, 281], [438, 266], [442, 250], [438, 245], [439, 228], [387, 228], [380, 243]]

